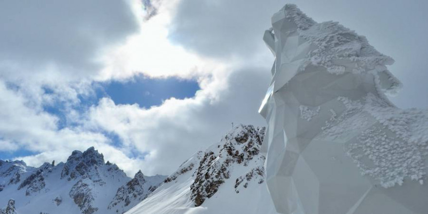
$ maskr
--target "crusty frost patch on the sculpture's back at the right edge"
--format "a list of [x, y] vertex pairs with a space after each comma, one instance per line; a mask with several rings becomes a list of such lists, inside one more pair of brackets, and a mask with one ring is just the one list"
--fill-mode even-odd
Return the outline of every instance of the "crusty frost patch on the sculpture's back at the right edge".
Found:
[[[423, 183], [428, 160], [428, 110], [399, 109], [371, 93], [362, 101], [346, 97], [338, 101], [346, 110], [327, 121], [324, 134], [340, 139], [353, 130], [364, 130], [346, 147], [362, 175], [372, 176], [386, 188], [402, 185], [405, 178]], [[377, 125], [370, 126], [367, 115], [374, 117]]]

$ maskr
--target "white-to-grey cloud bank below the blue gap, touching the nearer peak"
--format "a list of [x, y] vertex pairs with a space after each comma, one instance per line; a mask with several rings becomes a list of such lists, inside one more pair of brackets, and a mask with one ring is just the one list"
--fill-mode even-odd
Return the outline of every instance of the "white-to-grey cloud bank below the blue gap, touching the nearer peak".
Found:
[[266, 70], [214, 74], [195, 98], [169, 99], [150, 109], [104, 98], [91, 108], [88, 125], [118, 134], [129, 150], [147, 153], [140, 165], [145, 173], [168, 174], [198, 149], [219, 141], [232, 122], [264, 124], [257, 109], [269, 84]]

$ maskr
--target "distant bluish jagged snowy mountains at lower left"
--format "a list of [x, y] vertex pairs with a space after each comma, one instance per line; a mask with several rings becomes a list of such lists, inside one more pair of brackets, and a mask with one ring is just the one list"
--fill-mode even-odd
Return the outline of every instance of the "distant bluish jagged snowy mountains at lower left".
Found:
[[147, 177], [141, 171], [128, 178], [93, 147], [73, 151], [65, 163], [38, 168], [0, 160], [0, 207], [7, 205], [3, 213], [18, 214], [122, 214], [165, 178]]

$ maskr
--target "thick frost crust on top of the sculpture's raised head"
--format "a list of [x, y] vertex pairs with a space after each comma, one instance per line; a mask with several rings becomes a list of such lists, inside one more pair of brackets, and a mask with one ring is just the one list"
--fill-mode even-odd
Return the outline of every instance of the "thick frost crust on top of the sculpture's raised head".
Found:
[[402, 88], [401, 82], [386, 67], [392, 65], [394, 60], [379, 53], [365, 36], [358, 35], [339, 22], [317, 23], [294, 4], [286, 4], [282, 10], [286, 11], [286, 18], [294, 20], [297, 33], [314, 47], [304, 58], [300, 71], [313, 65], [322, 66], [335, 74], [369, 72], [377, 77], [376, 84], [387, 95], [396, 95]]

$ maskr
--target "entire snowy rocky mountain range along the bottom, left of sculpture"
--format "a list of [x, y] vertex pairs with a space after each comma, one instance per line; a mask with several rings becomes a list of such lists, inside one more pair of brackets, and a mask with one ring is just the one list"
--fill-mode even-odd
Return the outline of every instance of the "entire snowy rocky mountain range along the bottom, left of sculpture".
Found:
[[265, 130], [238, 125], [168, 177], [128, 178], [93, 147], [56, 166], [1, 160], [0, 214], [276, 214], [261, 153]]

